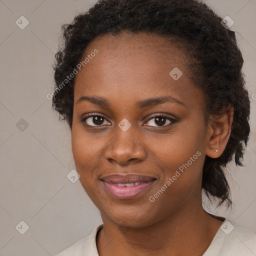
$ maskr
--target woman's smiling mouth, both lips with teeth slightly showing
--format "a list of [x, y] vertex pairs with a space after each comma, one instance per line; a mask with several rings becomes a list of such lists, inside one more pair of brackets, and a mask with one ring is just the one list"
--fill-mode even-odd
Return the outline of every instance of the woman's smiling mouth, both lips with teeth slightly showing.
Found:
[[149, 189], [156, 178], [137, 174], [113, 174], [100, 180], [111, 196], [117, 199], [131, 199]]

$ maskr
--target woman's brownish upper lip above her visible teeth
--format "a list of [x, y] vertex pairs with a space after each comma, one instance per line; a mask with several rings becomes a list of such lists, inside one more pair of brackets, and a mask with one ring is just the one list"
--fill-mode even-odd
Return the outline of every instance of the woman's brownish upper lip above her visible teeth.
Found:
[[130, 174], [112, 174], [106, 175], [101, 178], [108, 183], [135, 183], [135, 182], [149, 182], [155, 178], [151, 176], [138, 175], [134, 173]]

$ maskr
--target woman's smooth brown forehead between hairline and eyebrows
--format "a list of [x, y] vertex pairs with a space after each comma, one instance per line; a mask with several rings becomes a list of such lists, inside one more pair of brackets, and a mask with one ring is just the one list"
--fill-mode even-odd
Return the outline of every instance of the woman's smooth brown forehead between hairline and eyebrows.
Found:
[[[76, 75], [74, 97], [81, 94], [108, 96], [114, 93], [139, 98], [174, 93], [191, 96], [197, 88], [189, 79], [188, 56], [182, 47], [168, 38], [145, 32], [122, 32], [96, 37], [87, 46], [81, 60], [95, 49]], [[94, 54], [93, 54], [94, 55]], [[174, 70], [174, 71], [172, 71]], [[173, 74], [180, 76], [173, 79]], [[175, 76], [174, 76], [175, 77]], [[198, 91], [196, 91], [198, 97]]]

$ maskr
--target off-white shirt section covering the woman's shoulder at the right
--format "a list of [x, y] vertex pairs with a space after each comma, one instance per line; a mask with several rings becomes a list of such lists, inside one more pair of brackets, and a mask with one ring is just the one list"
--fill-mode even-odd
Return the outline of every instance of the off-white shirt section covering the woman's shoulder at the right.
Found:
[[256, 235], [231, 220], [225, 220], [203, 256], [254, 256]]

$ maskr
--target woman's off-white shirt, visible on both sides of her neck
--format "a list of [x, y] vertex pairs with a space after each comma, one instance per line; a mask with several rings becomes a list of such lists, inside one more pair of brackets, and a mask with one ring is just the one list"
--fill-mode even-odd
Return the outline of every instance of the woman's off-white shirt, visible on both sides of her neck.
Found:
[[[98, 256], [96, 234], [103, 224], [55, 256]], [[255, 256], [256, 235], [225, 219], [202, 256]]]

